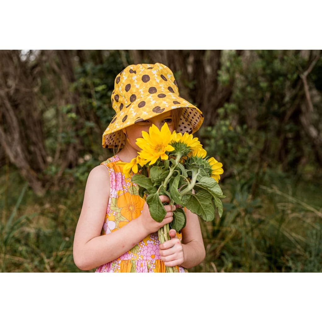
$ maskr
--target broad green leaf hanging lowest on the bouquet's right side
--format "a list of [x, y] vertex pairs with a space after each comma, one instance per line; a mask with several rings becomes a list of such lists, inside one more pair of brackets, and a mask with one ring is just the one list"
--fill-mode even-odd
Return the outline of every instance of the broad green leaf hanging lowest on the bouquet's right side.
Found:
[[204, 221], [211, 221], [215, 217], [213, 203], [202, 194], [185, 194], [182, 201], [187, 209], [200, 216]]

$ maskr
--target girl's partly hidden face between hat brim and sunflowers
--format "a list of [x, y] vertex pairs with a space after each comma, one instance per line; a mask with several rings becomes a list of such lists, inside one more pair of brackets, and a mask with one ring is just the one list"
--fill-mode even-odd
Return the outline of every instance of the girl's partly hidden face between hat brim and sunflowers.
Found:
[[137, 151], [140, 151], [141, 149], [136, 145], [136, 139], [142, 137], [142, 131], [149, 132], [149, 128], [152, 124], [154, 124], [160, 130], [165, 123], [168, 124], [169, 130], [172, 133], [175, 129], [172, 121], [171, 111], [156, 115], [155, 117], [146, 121], [128, 126], [126, 128], [126, 133], [132, 147], [135, 147]]

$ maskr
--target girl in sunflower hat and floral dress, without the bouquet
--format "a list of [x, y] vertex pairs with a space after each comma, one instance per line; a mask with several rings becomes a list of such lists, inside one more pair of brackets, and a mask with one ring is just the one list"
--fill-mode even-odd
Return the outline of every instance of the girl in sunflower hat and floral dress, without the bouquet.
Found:
[[[205, 249], [197, 215], [186, 210], [182, 234], [160, 244], [157, 230], [173, 220], [175, 206], [166, 204], [161, 223], [152, 219], [137, 185], [123, 172], [124, 162], [137, 156], [136, 139], [154, 124], [194, 133], [202, 122], [199, 109], [179, 96], [172, 71], [163, 64], [130, 65], [115, 79], [112, 107], [116, 112], [103, 134], [102, 146], [115, 156], [89, 174], [76, 227], [73, 256], [81, 270], [96, 272], [165, 272], [165, 266], [186, 272], [204, 260]], [[115, 150], [114, 150], [115, 151]], [[167, 196], [160, 196], [168, 203]]]

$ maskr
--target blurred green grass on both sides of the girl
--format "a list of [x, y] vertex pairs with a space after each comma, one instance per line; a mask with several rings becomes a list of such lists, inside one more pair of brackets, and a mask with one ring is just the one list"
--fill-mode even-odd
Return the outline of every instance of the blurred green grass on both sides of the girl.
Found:
[[[221, 186], [223, 216], [200, 222], [206, 258], [190, 272], [322, 271], [319, 180], [268, 170], [255, 197], [236, 177]], [[80, 272], [72, 244], [85, 183], [62, 184], [40, 198], [11, 171], [0, 172], [0, 187], [0, 270]]]

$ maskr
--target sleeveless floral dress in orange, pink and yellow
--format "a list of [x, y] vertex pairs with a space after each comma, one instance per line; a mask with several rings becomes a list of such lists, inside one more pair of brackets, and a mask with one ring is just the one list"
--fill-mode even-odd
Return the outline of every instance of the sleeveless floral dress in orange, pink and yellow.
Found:
[[[113, 233], [131, 220], [140, 216], [144, 200], [138, 194], [138, 186], [131, 181], [133, 173], [127, 177], [123, 173], [122, 162], [118, 155], [101, 163], [106, 166], [110, 177], [109, 203], [101, 235]], [[182, 239], [181, 234], [177, 233]], [[119, 258], [103, 264], [95, 272], [165, 272], [166, 266], [159, 255], [160, 241], [154, 232]], [[187, 272], [181, 266], [173, 267], [175, 272]]]

